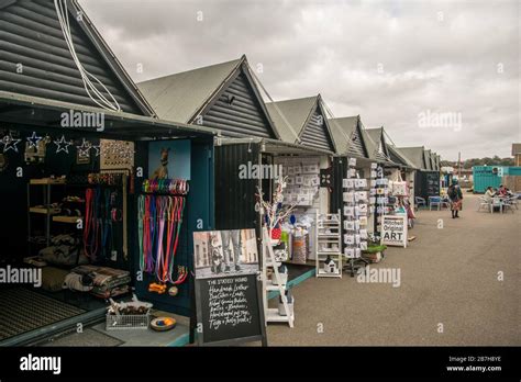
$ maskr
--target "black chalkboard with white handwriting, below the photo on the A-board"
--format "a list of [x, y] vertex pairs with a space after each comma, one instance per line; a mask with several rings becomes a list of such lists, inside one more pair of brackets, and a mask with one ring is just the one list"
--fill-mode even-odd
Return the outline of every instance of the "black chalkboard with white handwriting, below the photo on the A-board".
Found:
[[196, 279], [199, 344], [231, 345], [262, 340], [265, 345], [259, 291], [256, 274]]

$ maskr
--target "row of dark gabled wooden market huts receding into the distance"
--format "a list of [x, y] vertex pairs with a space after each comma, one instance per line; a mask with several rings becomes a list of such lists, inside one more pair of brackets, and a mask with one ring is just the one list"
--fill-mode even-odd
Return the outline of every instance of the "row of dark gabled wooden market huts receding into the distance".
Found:
[[[38, 254], [35, 245], [45, 239], [48, 245], [54, 229], [49, 210], [44, 240], [27, 232], [25, 216], [32, 221], [42, 211], [32, 207], [36, 202], [29, 196], [36, 179], [53, 183], [64, 176], [73, 183], [87, 172], [126, 171], [129, 192], [115, 193], [125, 198], [122, 216], [114, 207], [114, 226], [123, 226], [113, 229], [107, 250], [113, 256], [106, 265], [125, 269], [132, 278], [143, 255], [136, 222], [140, 190], [144, 179], [166, 168], [169, 178], [189, 183], [175, 265], [190, 271], [197, 250], [193, 232], [258, 232], [263, 224], [257, 194], [262, 190], [270, 198], [273, 179], [242, 178], [241, 166], [306, 166], [310, 177], [296, 178], [309, 192], [291, 194], [301, 202], [302, 214], [341, 209], [348, 158], [356, 158], [361, 178], [368, 179], [376, 162], [390, 180], [408, 181], [412, 203], [414, 195], [440, 194], [440, 156], [428, 143], [398, 146], [384, 126], [368, 128], [361, 115], [333, 116], [321, 94], [273, 102], [246, 56], [136, 85], [78, 2], [62, 3], [62, 10], [56, 3], [62, 2], [0, 2], [0, 215], [13, 216], [0, 231], [2, 263], [22, 263]], [[68, 25], [60, 12], [69, 15]], [[102, 115], [103, 124], [64, 124], [64, 115], [71, 113]], [[128, 144], [111, 151], [111, 142]], [[75, 190], [81, 189], [67, 192]], [[189, 278], [179, 283], [175, 299], [151, 291], [153, 281], [153, 274], [145, 274], [135, 284], [140, 297], [192, 314]]]

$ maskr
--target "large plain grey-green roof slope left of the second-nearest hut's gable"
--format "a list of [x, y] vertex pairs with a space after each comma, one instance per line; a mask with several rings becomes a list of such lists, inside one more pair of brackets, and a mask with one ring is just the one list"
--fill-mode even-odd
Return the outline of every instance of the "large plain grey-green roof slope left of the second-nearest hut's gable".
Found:
[[159, 117], [190, 123], [244, 58], [155, 78], [137, 87]]

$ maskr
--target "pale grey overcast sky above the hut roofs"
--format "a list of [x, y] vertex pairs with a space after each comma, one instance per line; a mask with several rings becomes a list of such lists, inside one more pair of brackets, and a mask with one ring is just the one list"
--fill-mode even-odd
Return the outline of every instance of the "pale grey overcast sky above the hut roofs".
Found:
[[518, 0], [80, 3], [136, 82], [245, 54], [275, 100], [320, 92], [398, 146], [456, 159], [521, 142]]

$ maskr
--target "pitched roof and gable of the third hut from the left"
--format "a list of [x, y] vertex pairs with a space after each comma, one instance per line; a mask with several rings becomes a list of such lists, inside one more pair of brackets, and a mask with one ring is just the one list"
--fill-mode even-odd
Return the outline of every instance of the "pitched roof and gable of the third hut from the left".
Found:
[[[266, 103], [280, 138], [288, 143], [328, 147], [335, 151], [335, 141], [320, 94]], [[320, 123], [317, 121], [320, 114]], [[317, 130], [321, 130], [317, 132]], [[318, 137], [318, 134], [320, 137]], [[313, 142], [317, 137], [317, 141]], [[320, 139], [319, 139], [320, 138]], [[318, 142], [321, 141], [321, 142]]]

